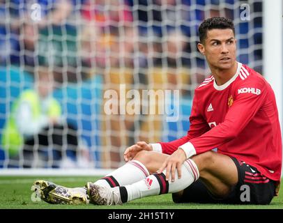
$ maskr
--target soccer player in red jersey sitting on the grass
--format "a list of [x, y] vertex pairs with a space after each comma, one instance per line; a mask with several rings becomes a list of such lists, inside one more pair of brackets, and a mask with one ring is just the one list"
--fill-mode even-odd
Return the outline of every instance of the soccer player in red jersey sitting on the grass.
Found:
[[[175, 202], [268, 204], [278, 194], [282, 139], [273, 89], [236, 61], [231, 20], [205, 20], [199, 38], [212, 75], [195, 89], [188, 134], [127, 148], [123, 167], [86, 184], [85, 203], [114, 205], [172, 193]], [[40, 192], [50, 188], [47, 200], [61, 187], [43, 180], [35, 185]]]

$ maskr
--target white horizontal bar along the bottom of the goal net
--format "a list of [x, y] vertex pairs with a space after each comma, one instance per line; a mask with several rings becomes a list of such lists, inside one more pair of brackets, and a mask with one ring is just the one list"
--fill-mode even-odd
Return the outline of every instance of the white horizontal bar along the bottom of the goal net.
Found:
[[0, 169], [0, 176], [105, 176], [114, 169]]

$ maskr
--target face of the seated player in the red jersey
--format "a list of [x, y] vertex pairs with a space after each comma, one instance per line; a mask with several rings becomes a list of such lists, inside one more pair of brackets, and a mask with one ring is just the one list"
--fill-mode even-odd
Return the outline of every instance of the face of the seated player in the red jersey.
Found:
[[211, 67], [224, 70], [234, 66], [236, 39], [233, 30], [211, 29], [206, 34], [204, 45], [199, 44], [198, 47]]

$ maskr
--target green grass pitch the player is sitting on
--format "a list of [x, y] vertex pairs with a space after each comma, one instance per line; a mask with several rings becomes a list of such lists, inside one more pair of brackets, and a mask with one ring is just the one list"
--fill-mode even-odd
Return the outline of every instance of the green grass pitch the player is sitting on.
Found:
[[[129, 203], [124, 203], [121, 206], [94, 206], [90, 205], [52, 205], [44, 201], [31, 201], [31, 185], [34, 180], [44, 179], [52, 181], [66, 187], [80, 187], [88, 181], [95, 181], [98, 177], [79, 176], [0, 176], [0, 209], [282, 209], [283, 208], [283, 192], [280, 191], [280, 196], [275, 197], [268, 206], [254, 205], [219, 205], [219, 204], [199, 204], [199, 203], [181, 203], [176, 204], [171, 199], [171, 194], [163, 194], [161, 196], [145, 197]], [[283, 190], [283, 189], [281, 189]]]

